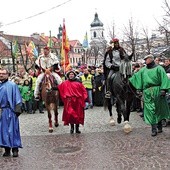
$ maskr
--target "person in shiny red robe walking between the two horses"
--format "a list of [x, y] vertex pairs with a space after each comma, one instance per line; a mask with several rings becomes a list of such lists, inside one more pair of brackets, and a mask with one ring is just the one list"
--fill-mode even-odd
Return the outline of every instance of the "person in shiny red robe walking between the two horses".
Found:
[[83, 84], [76, 79], [76, 73], [71, 70], [66, 74], [67, 80], [58, 85], [60, 97], [64, 103], [64, 125], [71, 125], [70, 133], [81, 133], [79, 124], [84, 125], [84, 107], [87, 92]]

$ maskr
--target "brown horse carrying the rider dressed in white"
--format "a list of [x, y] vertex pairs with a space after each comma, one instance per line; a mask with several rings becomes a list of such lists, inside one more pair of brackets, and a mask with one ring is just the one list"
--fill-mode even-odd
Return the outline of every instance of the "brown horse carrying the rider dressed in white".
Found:
[[55, 79], [53, 75], [45, 74], [42, 85], [41, 85], [41, 97], [45, 103], [45, 107], [48, 112], [48, 119], [49, 119], [49, 132], [53, 132], [53, 125], [52, 125], [52, 111], [54, 111], [54, 125], [58, 127], [58, 103], [59, 103], [59, 92], [58, 90], [54, 90], [56, 84], [54, 83]]

